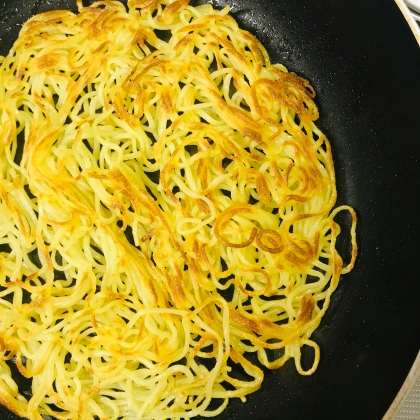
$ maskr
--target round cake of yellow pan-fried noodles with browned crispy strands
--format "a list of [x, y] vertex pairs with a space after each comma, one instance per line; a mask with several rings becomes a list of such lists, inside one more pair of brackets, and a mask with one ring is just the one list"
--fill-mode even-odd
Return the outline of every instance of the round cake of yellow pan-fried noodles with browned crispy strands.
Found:
[[227, 8], [128, 3], [35, 16], [1, 59], [0, 402], [29, 419], [210, 417], [257, 358], [311, 374], [356, 257], [308, 82]]

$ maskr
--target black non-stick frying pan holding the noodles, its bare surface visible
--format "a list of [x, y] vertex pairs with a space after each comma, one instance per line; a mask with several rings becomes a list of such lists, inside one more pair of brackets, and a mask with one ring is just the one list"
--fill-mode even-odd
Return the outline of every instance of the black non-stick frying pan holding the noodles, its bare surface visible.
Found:
[[[220, 419], [379, 420], [420, 349], [420, 49], [393, 0], [212, 2], [230, 4], [273, 62], [313, 84], [337, 204], [359, 216], [356, 267], [313, 335], [318, 370], [302, 377], [290, 361], [267, 370], [262, 389]], [[75, 10], [74, 0], [0, 4], [2, 54], [34, 13]], [[3, 408], [0, 418], [17, 417]]]

